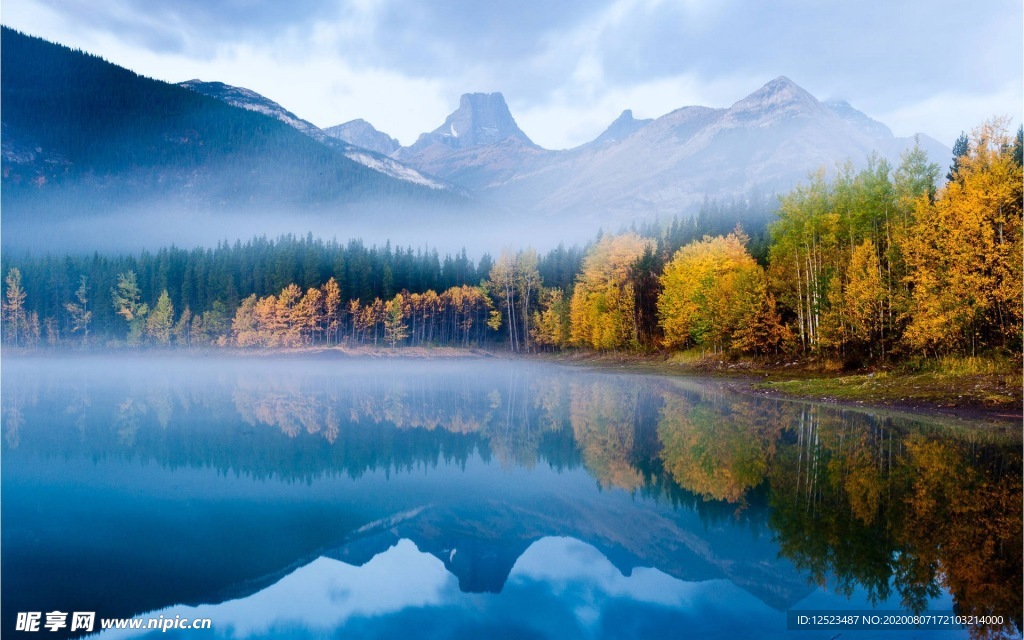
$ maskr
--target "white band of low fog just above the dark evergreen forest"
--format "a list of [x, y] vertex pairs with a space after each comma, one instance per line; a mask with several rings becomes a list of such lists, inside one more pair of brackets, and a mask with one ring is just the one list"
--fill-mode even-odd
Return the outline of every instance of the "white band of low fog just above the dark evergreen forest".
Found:
[[[617, 227], [616, 227], [617, 228]], [[485, 209], [361, 208], [339, 212], [188, 211], [159, 206], [85, 217], [38, 215], [3, 220], [0, 242], [14, 254], [91, 254], [215, 247], [227, 241], [285, 233], [323, 240], [361, 240], [367, 245], [429, 247], [441, 255], [466, 249], [470, 256], [497, 255], [506, 248], [553, 249], [583, 244], [601, 229], [599, 221], [552, 219]], [[610, 229], [605, 225], [604, 230]]]

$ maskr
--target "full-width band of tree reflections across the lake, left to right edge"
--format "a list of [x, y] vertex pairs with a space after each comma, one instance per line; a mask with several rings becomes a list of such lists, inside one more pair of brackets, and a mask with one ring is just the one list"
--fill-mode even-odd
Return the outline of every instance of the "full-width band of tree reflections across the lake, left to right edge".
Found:
[[127, 395], [83, 377], [45, 402], [45, 382], [4, 382], [7, 451], [287, 480], [465, 465], [474, 453], [582, 465], [604, 488], [764, 522], [782, 557], [840, 593], [895, 593], [921, 610], [945, 588], [959, 613], [1012, 616], [975, 635], [1021, 628], [1019, 434], [522, 364], [242, 367], [191, 384], [141, 380]]

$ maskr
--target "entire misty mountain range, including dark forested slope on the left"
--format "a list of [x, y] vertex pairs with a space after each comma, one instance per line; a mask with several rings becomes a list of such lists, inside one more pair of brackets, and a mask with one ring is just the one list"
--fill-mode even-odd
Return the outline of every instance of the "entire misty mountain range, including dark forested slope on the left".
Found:
[[[7, 28], [0, 40], [5, 246], [78, 239], [83, 220], [114, 213], [126, 227], [162, 233], [209, 224], [216, 239], [230, 216], [250, 224], [227, 228], [249, 234], [273, 224], [308, 230], [309, 216], [334, 234], [411, 222], [501, 233], [527, 217], [587, 237], [692, 215], [709, 198], [784, 191], [870, 154], [896, 164], [914, 143], [779, 77], [729, 108], [653, 119], [626, 110], [594, 140], [563, 151], [535, 143], [501, 93], [467, 93], [436, 129], [401, 146], [366, 120], [321, 129], [243, 87], [143, 78]], [[936, 140], [918, 140], [933, 162], [949, 158]], [[273, 224], [255, 224], [260, 216]]]

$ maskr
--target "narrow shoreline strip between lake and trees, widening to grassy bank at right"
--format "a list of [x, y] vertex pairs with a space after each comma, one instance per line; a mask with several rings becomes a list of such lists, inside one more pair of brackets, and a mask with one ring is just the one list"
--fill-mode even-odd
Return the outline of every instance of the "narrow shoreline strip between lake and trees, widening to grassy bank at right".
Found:
[[[1021, 374], [965, 374], [942, 376], [912, 374], [898, 370], [833, 372], [813, 364], [765, 364], [750, 360], [726, 362], [711, 359], [684, 360], [676, 355], [623, 352], [562, 351], [512, 353], [475, 347], [318, 346], [282, 349], [198, 347], [194, 349], [27, 350], [4, 348], [0, 356], [47, 357], [116, 355], [153, 357], [174, 355], [193, 358], [308, 358], [331, 359], [522, 359], [599, 371], [629, 372], [668, 377], [717, 380], [727, 390], [790, 400], [883, 410], [895, 413], [1009, 427], [1024, 424]], [[1015, 393], [1016, 390], [1016, 393]], [[956, 397], [952, 397], [955, 394]]]

